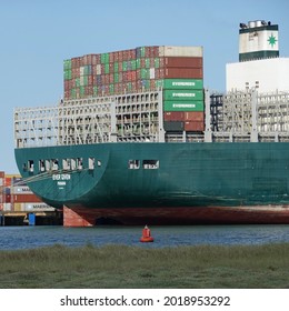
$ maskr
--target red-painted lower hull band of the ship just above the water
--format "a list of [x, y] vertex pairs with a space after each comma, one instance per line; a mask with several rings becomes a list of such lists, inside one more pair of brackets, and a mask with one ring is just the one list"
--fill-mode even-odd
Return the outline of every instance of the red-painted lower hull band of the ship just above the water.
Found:
[[63, 208], [64, 227], [88, 227], [112, 219], [123, 224], [289, 224], [289, 205], [143, 209]]

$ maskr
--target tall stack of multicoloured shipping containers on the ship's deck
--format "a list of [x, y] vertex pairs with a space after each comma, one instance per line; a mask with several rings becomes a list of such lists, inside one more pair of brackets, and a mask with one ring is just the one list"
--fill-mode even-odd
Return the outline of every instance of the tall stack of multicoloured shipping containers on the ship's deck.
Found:
[[64, 100], [163, 90], [166, 131], [203, 131], [201, 47], [140, 47], [64, 60]]

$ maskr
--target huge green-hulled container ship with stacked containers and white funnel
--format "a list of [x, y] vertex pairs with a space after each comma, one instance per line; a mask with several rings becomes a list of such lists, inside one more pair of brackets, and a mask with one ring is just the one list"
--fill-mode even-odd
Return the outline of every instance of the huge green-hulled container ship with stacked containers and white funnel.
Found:
[[265, 80], [275, 89], [289, 62], [277, 24], [241, 23], [239, 38], [226, 93], [203, 89], [202, 47], [64, 60], [63, 100], [14, 109], [27, 184], [67, 227], [289, 223], [289, 93]]

